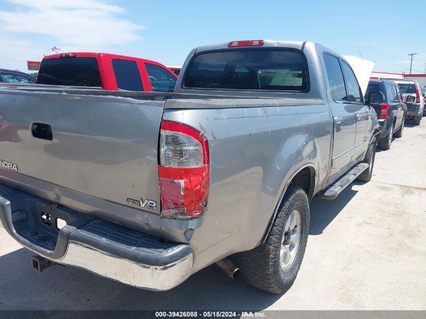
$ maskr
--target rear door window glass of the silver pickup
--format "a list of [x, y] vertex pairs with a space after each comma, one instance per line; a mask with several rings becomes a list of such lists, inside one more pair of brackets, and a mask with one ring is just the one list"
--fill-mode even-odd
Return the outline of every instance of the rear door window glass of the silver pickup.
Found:
[[331, 98], [335, 101], [346, 100], [345, 81], [343, 80], [342, 69], [340, 69], [338, 58], [330, 54], [324, 54], [324, 63], [327, 71]]

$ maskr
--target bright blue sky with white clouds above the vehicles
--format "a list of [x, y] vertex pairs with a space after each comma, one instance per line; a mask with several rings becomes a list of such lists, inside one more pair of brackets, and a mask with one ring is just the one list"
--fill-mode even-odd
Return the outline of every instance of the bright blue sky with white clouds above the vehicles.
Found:
[[[0, 0], [0, 68], [61, 52], [108, 52], [181, 66], [196, 46], [236, 40], [314, 41], [376, 63], [423, 73], [424, 0], [192, 1]], [[411, 7], [408, 8], [408, 7]], [[409, 12], [409, 14], [407, 14]], [[415, 14], [418, 12], [418, 14]]]

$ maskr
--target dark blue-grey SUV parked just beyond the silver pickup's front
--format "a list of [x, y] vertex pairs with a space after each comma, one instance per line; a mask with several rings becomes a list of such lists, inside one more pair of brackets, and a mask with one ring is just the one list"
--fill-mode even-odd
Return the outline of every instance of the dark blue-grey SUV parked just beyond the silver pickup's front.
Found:
[[[377, 104], [377, 101], [369, 100], [370, 92], [372, 91], [382, 92], [383, 103]], [[402, 137], [402, 131], [404, 130], [407, 106], [403, 103], [400, 89], [395, 82], [390, 80], [370, 80], [364, 98], [366, 104], [374, 108], [379, 118], [379, 124], [382, 127], [378, 146], [381, 149], [389, 150], [392, 137]]]

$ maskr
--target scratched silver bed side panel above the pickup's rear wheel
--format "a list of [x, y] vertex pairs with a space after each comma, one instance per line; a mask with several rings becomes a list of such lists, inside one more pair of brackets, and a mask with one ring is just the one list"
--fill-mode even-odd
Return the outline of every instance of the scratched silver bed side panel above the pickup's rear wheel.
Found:
[[209, 141], [208, 211], [190, 242], [195, 270], [259, 244], [297, 168], [313, 165], [318, 187], [327, 177], [332, 126], [325, 104], [167, 110], [163, 118], [196, 127]]

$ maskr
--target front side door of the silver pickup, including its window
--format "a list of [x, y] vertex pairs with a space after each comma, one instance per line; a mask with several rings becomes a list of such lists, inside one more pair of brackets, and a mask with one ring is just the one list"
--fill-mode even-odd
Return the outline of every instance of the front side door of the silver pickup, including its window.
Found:
[[366, 155], [372, 133], [373, 119], [371, 118], [370, 107], [364, 105], [362, 91], [355, 74], [345, 61], [340, 60], [340, 64], [343, 69], [343, 75], [345, 76], [348, 101], [350, 101], [355, 111], [356, 118], [355, 146], [350, 162], [351, 166], [362, 161]]

